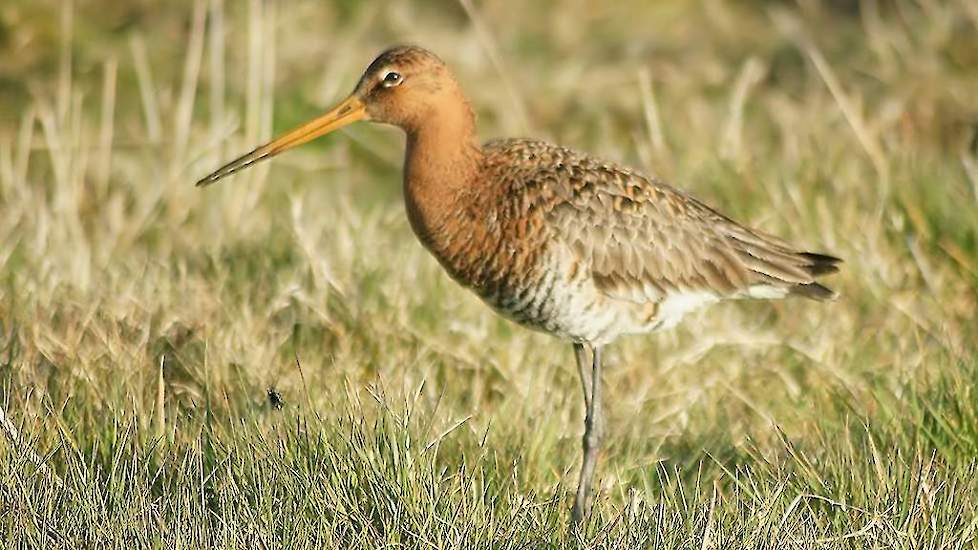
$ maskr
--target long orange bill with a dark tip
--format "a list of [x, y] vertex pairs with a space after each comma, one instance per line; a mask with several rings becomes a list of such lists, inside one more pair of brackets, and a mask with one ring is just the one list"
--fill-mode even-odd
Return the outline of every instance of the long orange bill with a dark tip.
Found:
[[333, 107], [326, 114], [311, 120], [302, 126], [293, 128], [272, 141], [262, 145], [255, 150], [242, 155], [224, 166], [218, 168], [212, 174], [205, 176], [197, 181], [197, 187], [210, 185], [217, 180], [230, 176], [231, 174], [244, 170], [260, 160], [274, 157], [275, 155], [302, 145], [307, 141], [326, 135], [333, 130], [337, 130], [358, 120], [367, 118], [366, 106], [356, 95], [351, 95], [342, 103]]

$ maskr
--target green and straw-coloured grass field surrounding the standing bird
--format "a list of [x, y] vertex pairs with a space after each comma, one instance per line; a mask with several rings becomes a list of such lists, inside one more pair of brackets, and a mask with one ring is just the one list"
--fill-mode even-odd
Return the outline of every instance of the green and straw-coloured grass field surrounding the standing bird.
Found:
[[[978, 4], [0, 6], [0, 545], [972, 548]], [[658, 174], [841, 298], [624, 339], [571, 533], [570, 346], [416, 242], [360, 125], [204, 190], [384, 47], [484, 138]]]

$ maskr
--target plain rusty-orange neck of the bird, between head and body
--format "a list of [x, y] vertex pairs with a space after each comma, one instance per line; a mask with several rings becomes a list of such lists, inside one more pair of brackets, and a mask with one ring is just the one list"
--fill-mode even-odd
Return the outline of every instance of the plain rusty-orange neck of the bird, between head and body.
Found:
[[439, 255], [464, 223], [466, 201], [480, 182], [482, 150], [475, 117], [464, 99], [449, 101], [407, 129], [404, 200], [411, 227]]

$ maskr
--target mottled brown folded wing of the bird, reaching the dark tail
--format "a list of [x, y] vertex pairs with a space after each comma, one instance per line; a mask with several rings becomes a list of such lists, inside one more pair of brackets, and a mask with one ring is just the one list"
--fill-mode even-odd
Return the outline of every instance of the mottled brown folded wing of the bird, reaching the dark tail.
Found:
[[549, 229], [611, 296], [737, 296], [758, 286], [834, 295], [815, 278], [837, 271], [838, 258], [797, 252], [666, 184], [540, 141], [492, 142], [486, 151], [491, 164], [509, 166], [508, 192], [534, 197]]

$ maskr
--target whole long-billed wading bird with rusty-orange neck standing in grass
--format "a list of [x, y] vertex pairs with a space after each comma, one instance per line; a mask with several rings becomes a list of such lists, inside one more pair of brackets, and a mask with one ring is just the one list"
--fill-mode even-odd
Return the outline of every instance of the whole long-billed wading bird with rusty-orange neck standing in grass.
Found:
[[407, 134], [404, 201], [418, 239], [496, 312], [573, 345], [584, 390], [587, 513], [604, 433], [601, 350], [724, 299], [834, 296], [838, 258], [801, 252], [657, 179], [531, 139], [478, 142], [448, 67], [422, 48], [377, 57], [342, 103], [201, 179], [208, 185], [358, 120]]

